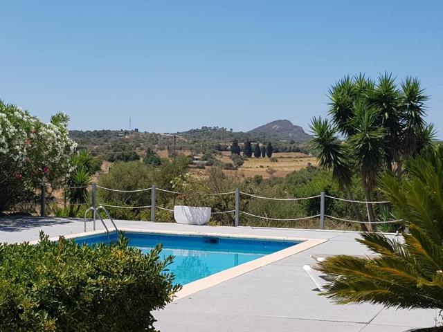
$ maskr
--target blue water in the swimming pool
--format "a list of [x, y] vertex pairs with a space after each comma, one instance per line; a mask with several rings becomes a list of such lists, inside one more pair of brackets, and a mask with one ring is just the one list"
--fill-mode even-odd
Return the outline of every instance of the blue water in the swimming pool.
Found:
[[[141, 232], [125, 232], [125, 236], [129, 238], [130, 246], [139, 248], [143, 252], [150, 252], [158, 243], [162, 243], [161, 258], [174, 256], [174, 262], [169, 266], [169, 270], [174, 273], [177, 284], [188, 284], [300, 243]], [[115, 241], [117, 234], [111, 233], [109, 237], [111, 241]], [[92, 245], [107, 242], [107, 235], [80, 237], [75, 241]]]

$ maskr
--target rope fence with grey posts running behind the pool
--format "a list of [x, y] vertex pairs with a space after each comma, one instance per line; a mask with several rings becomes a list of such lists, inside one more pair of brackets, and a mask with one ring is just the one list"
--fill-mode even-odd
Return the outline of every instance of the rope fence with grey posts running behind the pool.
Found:
[[[183, 192], [177, 192], [174, 190], [158, 188], [155, 185], [152, 185], [152, 187], [141, 188], [141, 189], [123, 190], [123, 189], [104, 187], [101, 185], [97, 185], [96, 183], [92, 183], [91, 186], [61, 187], [61, 189], [72, 190], [72, 189], [81, 189], [81, 188], [87, 188], [87, 187], [91, 187], [92, 207], [93, 208], [100, 205], [100, 206], [103, 206], [106, 208], [114, 208], [114, 209], [129, 209], [129, 210], [151, 209], [151, 216], [150, 216], [151, 221], [156, 221], [156, 215], [155, 215], [156, 210], [163, 210], [163, 211], [174, 213], [173, 209], [171, 209], [167, 206], [160, 206], [157, 204], [157, 202], [156, 202], [156, 193], [157, 192], [163, 192], [166, 194], [173, 194], [173, 195], [183, 195], [183, 196], [187, 195], [186, 193], [183, 193]], [[151, 196], [151, 204], [150, 205], [148, 205], [148, 204], [145, 204], [145, 205], [118, 205], [118, 204], [113, 204], [113, 203], [108, 203], [108, 202], [97, 202], [96, 201], [96, 197], [97, 197], [96, 191], [97, 190], [105, 190], [105, 191], [109, 191], [109, 192], [127, 193], [127, 194], [147, 192]], [[306, 196], [306, 197], [267, 197], [267, 196], [260, 196], [260, 195], [256, 195], [256, 194], [251, 194], [248, 192], [242, 192], [237, 188], [234, 191], [229, 191], [229, 192], [215, 192], [215, 193], [202, 193], [201, 194], [201, 196], [229, 196], [229, 195], [235, 196], [235, 208], [234, 209], [226, 209], [224, 211], [211, 211], [210, 214], [211, 215], [235, 214], [235, 219], [234, 219], [235, 226], [240, 225], [240, 215], [241, 214], [245, 215], [245, 216], [249, 216], [251, 218], [263, 219], [265, 221], [282, 221], [282, 222], [294, 221], [294, 222], [296, 222], [296, 221], [305, 221], [305, 220], [309, 220], [309, 219], [320, 219], [320, 229], [324, 229], [325, 219], [343, 221], [346, 223], [359, 223], [359, 224], [361, 224], [361, 223], [369, 224], [370, 223], [370, 224], [374, 224], [374, 225], [388, 224], [388, 223], [401, 223], [403, 221], [401, 219], [392, 219], [392, 220], [386, 220], [386, 221], [375, 219], [375, 220], [369, 222], [368, 221], [370, 219], [369, 217], [366, 220], [353, 220], [353, 219], [343, 218], [341, 216], [333, 216], [331, 214], [328, 214], [325, 211], [325, 199], [333, 199], [333, 200], [337, 200], [337, 201], [344, 201], [347, 203], [365, 204], [365, 205], [388, 204], [390, 202], [389, 201], [359, 201], [359, 200], [354, 200], [354, 199], [343, 199], [341, 197], [327, 195], [324, 192], [321, 192], [318, 195]], [[251, 200], [251, 199], [259, 199], [259, 200], [275, 201], [275, 202], [277, 202], [277, 201], [285, 202], [286, 201], [288, 203], [296, 203], [296, 202], [300, 202], [300, 201], [319, 199], [320, 202], [318, 204], [319, 204], [320, 213], [313, 214], [311, 216], [294, 216], [293, 218], [276, 218], [275, 216], [255, 214], [255, 213], [251, 213], [251, 211], [243, 210], [242, 206], [241, 206], [242, 203], [245, 202], [245, 200], [247, 201], [247, 200]], [[91, 205], [90, 203], [68, 203], [68, 204], [70, 204], [70, 205]], [[226, 208], [228, 208], [228, 206], [226, 206]]]

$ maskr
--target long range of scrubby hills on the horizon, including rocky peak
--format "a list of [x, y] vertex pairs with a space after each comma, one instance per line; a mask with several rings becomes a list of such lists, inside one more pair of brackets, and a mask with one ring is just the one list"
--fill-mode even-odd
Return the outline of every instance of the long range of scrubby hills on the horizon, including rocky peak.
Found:
[[[233, 131], [223, 127], [201, 127], [181, 133], [149, 133], [130, 130], [69, 131], [69, 136], [80, 149], [88, 149], [93, 156], [108, 161], [136, 160], [144, 156], [147, 149], [154, 149], [161, 156], [177, 153], [204, 154], [206, 151], [230, 151], [230, 144], [237, 140], [242, 146], [251, 141], [264, 145], [272, 142], [273, 151], [309, 154], [309, 136], [302, 127], [289, 120], [277, 120], [251, 131]], [[174, 144], [175, 136], [175, 144]], [[181, 152], [180, 152], [181, 151]]]

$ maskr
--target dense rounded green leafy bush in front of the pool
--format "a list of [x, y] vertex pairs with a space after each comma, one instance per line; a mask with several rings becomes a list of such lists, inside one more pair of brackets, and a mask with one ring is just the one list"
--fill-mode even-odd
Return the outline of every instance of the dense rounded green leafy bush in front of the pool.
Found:
[[116, 243], [80, 246], [40, 234], [37, 245], [0, 245], [0, 331], [155, 331], [152, 311], [172, 301], [159, 260]]

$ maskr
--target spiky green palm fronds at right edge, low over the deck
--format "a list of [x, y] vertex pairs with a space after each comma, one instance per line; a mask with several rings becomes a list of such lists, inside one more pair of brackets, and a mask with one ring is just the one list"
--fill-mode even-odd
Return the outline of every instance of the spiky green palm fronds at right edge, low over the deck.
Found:
[[406, 163], [407, 176], [383, 176], [394, 213], [408, 225], [403, 241], [363, 233], [374, 259], [338, 255], [319, 270], [334, 277], [321, 293], [339, 304], [370, 302], [397, 308], [443, 309], [443, 147]]

